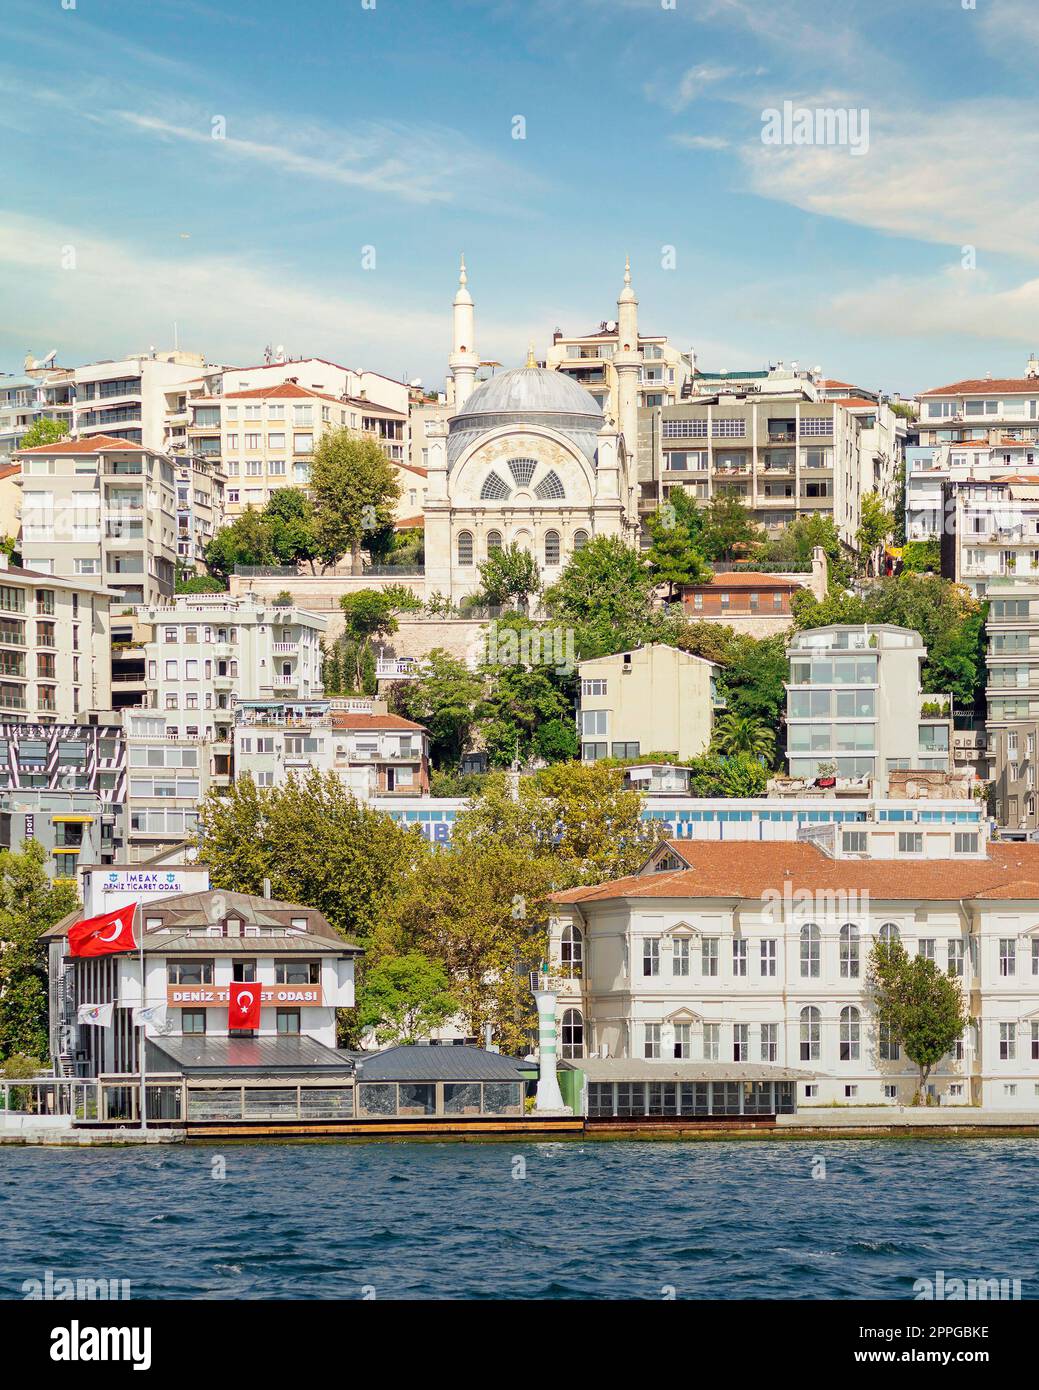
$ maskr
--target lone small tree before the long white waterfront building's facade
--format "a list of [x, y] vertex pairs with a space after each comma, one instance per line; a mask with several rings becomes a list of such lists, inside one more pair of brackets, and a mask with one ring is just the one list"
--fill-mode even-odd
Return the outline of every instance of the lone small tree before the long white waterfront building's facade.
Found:
[[960, 986], [926, 956], [910, 956], [900, 941], [878, 941], [869, 954], [868, 981], [878, 1023], [919, 1070], [924, 1101], [932, 1069], [951, 1052], [969, 1023]]

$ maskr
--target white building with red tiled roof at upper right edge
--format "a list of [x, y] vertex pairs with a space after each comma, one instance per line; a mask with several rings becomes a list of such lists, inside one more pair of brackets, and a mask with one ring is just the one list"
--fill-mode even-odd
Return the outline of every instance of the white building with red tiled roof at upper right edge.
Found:
[[925, 391], [919, 407], [922, 446], [1039, 439], [1039, 359], [1029, 357], [1024, 377], [972, 377]]

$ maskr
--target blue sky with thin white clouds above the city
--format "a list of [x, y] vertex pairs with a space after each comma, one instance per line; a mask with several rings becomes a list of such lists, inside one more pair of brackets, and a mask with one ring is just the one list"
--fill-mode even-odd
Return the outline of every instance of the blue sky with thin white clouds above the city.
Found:
[[[1039, 349], [1039, 0], [3, 11], [0, 371], [177, 341], [442, 386], [460, 253], [505, 366], [616, 317], [626, 256], [704, 370], [911, 395]], [[848, 138], [791, 143], [821, 108]]]

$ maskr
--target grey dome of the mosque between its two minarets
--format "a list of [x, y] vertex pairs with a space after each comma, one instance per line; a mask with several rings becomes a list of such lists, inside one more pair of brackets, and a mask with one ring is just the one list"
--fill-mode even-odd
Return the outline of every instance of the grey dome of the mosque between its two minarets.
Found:
[[448, 470], [481, 435], [499, 425], [541, 424], [566, 435], [595, 466], [602, 411], [598, 402], [570, 381], [566, 373], [547, 367], [513, 367], [476, 388], [448, 423]]

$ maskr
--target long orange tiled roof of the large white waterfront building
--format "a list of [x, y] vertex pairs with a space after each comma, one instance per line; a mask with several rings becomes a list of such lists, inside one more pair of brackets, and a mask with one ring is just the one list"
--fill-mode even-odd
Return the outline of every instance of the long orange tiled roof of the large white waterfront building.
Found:
[[[894, 826], [892, 828], [896, 828]], [[844, 890], [876, 902], [1039, 899], [1039, 845], [999, 844], [988, 859], [830, 859], [816, 845], [790, 841], [669, 841], [690, 865], [668, 873], [633, 874], [613, 883], [566, 888], [554, 902], [615, 898], [761, 898]]]

